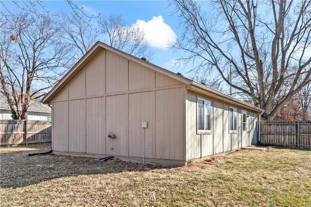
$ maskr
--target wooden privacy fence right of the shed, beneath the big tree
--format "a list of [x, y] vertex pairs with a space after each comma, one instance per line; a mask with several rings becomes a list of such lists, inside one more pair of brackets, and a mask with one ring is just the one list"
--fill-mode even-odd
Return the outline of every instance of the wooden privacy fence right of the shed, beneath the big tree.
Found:
[[261, 121], [260, 143], [311, 148], [311, 121]]

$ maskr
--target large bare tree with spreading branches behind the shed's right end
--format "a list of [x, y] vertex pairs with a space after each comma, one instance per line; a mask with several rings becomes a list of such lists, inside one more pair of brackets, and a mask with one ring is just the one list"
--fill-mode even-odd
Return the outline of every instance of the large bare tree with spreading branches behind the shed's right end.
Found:
[[[185, 60], [199, 62], [195, 69], [212, 66], [265, 110], [263, 119], [273, 120], [311, 82], [311, 1], [207, 3], [172, 1], [184, 27], [173, 47], [188, 52]], [[209, 13], [203, 8], [210, 8]]]

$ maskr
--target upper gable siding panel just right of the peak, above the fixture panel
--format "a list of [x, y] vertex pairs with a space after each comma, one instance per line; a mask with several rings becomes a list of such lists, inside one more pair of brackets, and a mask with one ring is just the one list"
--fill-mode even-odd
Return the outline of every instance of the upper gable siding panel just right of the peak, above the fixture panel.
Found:
[[128, 90], [128, 60], [106, 51], [106, 93]]

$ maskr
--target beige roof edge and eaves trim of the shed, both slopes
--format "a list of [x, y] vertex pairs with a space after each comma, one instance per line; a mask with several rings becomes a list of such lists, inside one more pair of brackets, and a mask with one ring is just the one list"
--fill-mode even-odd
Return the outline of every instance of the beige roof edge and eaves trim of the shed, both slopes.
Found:
[[55, 96], [59, 92], [62, 91], [62, 89], [91, 61], [99, 52], [103, 50], [108, 50], [111, 52], [115, 52], [122, 57], [125, 57], [129, 60], [132, 60], [138, 64], [141, 64], [145, 67], [151, 68], [155, 70], [156, 72], [159, 72], [161, 74], [167, 75], [177, 81], [182, 82], [187, 86], [187, 89], [193, 90], [202, 94], [205, 94], [207, 96], [210, 96], [212, 98], [215, 98], [220, 101], [224, 101], [228, 104], [241, 104], [243, 107], [251, 109], [256, 112], [263, 112], [264, 110], [253, 106], [251, 104], [247, 104], [245, 102], [242, 102], [240, 100], [237, 100], [235, 98], [232, 98], [228, 95], [225, 95], [224, 93], [221, 93], [217, 90], [214, 90], [208, 86], [205, 86], [203, 84], [200, 84], [198, 82], [195, 82], [193, 80], [190, 80], [186, 77], [183, 77], [181, 75], [178, 75], [176, 73], [173, 73], [172, 71], [169, 71], [167, 69], [160, 68], [152, 63], [149, 63], [143, 59], [140, 59], [138, 57], [135, 57], [133, 55], [130, 55], [128, 53], [122, 52], [120, 50], [117, 50], [113, 47], [110, 47], [102, 42], [97, 42], [95, 45], [73, 66], [72, 69], [69, 70], [69, 72], [52, 88], [52, 90], [43, 98], [44, 104], [50, 104], [50, 102], [53, 100]]

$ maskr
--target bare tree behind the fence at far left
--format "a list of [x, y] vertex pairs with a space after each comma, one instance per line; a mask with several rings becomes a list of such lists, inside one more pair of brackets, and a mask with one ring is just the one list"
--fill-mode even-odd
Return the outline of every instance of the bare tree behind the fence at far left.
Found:
[[27, 119], [29, 102], [59, 80], [69, 51], [48, 15], [0, 11], [0, 93], [13, 119]]

